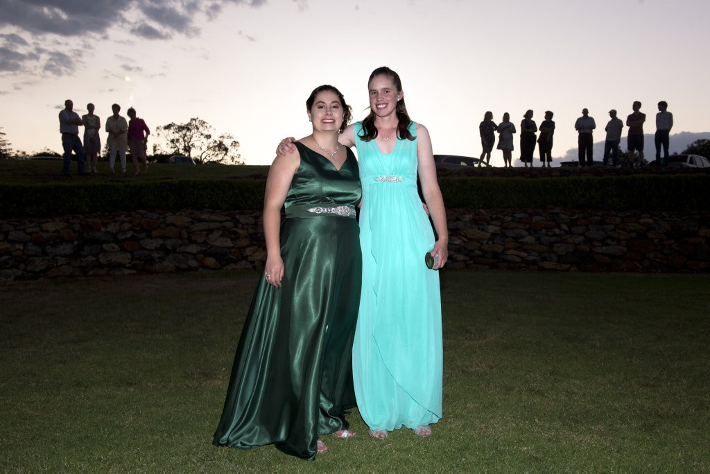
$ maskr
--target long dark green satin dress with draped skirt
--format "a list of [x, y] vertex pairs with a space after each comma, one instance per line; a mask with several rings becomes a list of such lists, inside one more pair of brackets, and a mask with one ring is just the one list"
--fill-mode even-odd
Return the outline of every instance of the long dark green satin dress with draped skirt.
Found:
[[280, 288], [261, 279], [234, 358], [215, 446], [274, 444], [314, 459], [318, 436], [348, 428], [362, 259], [357, 160], [342, 168], [297, 143], [285, 200]]

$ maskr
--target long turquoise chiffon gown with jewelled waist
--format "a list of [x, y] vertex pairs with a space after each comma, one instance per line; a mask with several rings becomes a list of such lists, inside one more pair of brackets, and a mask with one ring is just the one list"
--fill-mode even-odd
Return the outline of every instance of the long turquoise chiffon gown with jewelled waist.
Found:
[[[442, 416], [439, 274], [424, 259], [434, 232], [417, 193], [417, 141], [398, 139], [385, 154], [359, 138], [361, 129], [356, 123], [363, 276], [355, 394], [370, 429], [414, 429]], [[414, 123], [409, 129], [416, 136]]]

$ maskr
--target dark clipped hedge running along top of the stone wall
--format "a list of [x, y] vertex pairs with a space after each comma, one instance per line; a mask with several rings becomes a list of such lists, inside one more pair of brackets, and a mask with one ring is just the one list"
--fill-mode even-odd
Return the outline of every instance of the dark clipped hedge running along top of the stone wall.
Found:
[[[557, 178], [439, 178], [447, 208], [564, 208], [706, 210], [710, 174]], [[148, 183], [0, 185], [2, 217], [118, 210], [255, 210], [263, 207], [263, 179], [170, 180]]]

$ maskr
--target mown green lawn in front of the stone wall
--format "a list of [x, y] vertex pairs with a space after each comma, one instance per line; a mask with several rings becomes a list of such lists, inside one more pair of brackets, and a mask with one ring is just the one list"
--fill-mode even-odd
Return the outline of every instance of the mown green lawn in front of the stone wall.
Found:
[[0, 284], [0, 471], [710, 470], [708, 276], [441, 276], [433, 436], [355, 410], [315, 462], [211, 444], [259, 273]]

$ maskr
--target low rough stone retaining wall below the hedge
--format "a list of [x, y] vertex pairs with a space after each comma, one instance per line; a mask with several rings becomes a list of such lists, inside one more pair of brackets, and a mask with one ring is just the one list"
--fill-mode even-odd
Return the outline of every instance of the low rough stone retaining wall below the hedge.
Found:
[[[447, 211], [452, 268], [710, 271], [710, 211]], [[261, 211], [0, 220], [0, 280], [258, 269]]]

